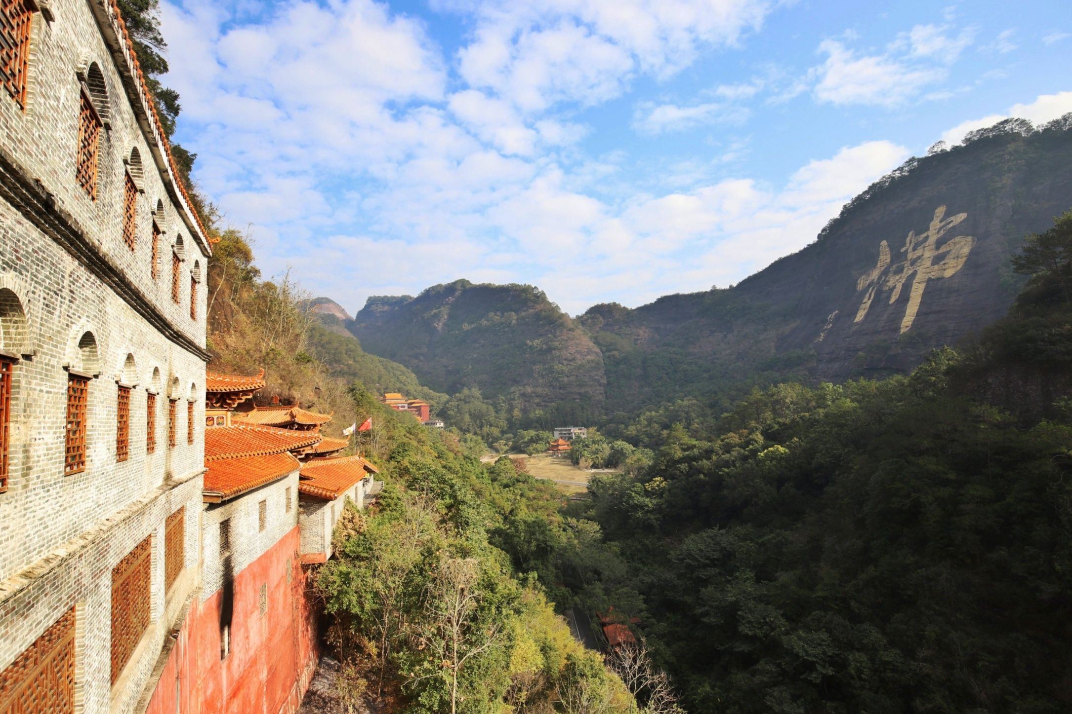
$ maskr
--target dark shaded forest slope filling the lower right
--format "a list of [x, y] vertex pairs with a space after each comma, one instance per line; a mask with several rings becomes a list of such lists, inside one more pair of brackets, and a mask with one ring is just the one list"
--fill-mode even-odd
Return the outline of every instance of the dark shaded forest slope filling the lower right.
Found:
[[594, 477], [606, 560], [551, 577], [637, 618], [694, 714], [1068, 711], [1072, 213], [1014, 267], [963, 351], [755, 390]]

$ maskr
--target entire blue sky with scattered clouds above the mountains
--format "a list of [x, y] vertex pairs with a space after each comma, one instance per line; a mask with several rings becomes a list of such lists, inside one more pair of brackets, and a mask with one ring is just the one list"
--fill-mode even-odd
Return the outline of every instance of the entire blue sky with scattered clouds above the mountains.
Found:
[[178, 140], [268, 275], [356, 312], [727, 286], [908, 156], [1072, 111], [1072, 2], [163, 0]]

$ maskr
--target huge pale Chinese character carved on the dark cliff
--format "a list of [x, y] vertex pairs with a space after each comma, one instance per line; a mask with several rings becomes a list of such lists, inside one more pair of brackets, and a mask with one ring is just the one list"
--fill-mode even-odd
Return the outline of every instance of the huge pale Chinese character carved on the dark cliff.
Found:
[[[925, 233], [920, 236], [915, 231], [908, 233], [905, 240], [905, 247], [900, 252], [905, 254], [905, 259], [890, 265], [890, 246], [882, 241], [878, 246], [878, 263], [869, 271], [860, 276], [857, 280], [857, 291], [864, 290], [864, 300], [857, 310], [855, 322], [860, 322], [867, 316], [872, 301], [879, 286], [883, 290], [892, 290], [890, 304], [897, 302], [900, 290], [911, 278], [911, 291], [908, 295], [908, 307], [905, 309], [905, 318], [900, 321], [900, 334], [908, 332], [915, 320], [915, 314], [920, 309], [923, 300], [923, 290], [927, 286], [927, 280], [950, 277], [961, 270], [964, 261], [968, 259], [968, 254], [976, 245], [976, 239], [971, 236], [957, 236], [952, 238], [941, 246], [938, 245], [946, 231], [968, 217], [967, 213], [957, 213], [955, 216], [946, 218], [946, 207], [939, 206], [935, 211], [935, 217], [930, 222], [930, 227]], [[889, 272], [887, 271], [889, 269]], [[882, 277], [885, 276], [883, 280]]]

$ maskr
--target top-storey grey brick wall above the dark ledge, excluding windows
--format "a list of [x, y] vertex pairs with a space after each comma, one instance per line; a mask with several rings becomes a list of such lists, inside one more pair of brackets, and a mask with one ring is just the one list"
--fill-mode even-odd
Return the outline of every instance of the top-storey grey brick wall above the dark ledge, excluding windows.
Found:
[[[95, 0], [94, 0], [95, 1]], [[168, 196], [157, 170], [149, 141], [126, 98], [120, 74], [111, 61], [104, 37], [93, 19], [89, 0], [53, 0], [56, 19], [33, 18], [27, 108], [18, 109], [9, 96], [0, 96], [0, 148], [71, 214], [89, 239], [122, 271], [126, 282], [142, 293], [196, 344], [205, 345], [205, 289], [202, 283], [197, 321], [190, 318], [190, 275], [195, 264], [206, 273], [206, 256], [197, 246], [179, 206]], [[75, 180], [80, 83], [78, 72], [95, 62], [104, 74], [108, 94], [110, 130], [101, 133], [96, 200], [91, 200]], [[137, 148], [142, 157], [143, 193], [137, 199], [137, 242], [132, 253], [122, 239], [124, 159]], [[158, 149], [159, 152], [159, 149]], [[158, 202], [164, 207], [158, 224], [160, 273], [150, 277], [152, 215]], [[178, 304], [172, 301], [172, 246], [181, 238], [184, 261], [179, 280]]]

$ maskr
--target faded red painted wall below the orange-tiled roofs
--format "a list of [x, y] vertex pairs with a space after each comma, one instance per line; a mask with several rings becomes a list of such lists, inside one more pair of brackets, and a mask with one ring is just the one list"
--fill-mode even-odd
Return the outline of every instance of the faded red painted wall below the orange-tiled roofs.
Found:
[[[299, 544], [295, 528], [235, 578], [226, 659], [220, 658], [222, 591], [190, 606], [147, 714], [297, 711], [319, 656], [316, 613], [306, 595]], [[264, 616], [262, 584], [268, 592]]]

